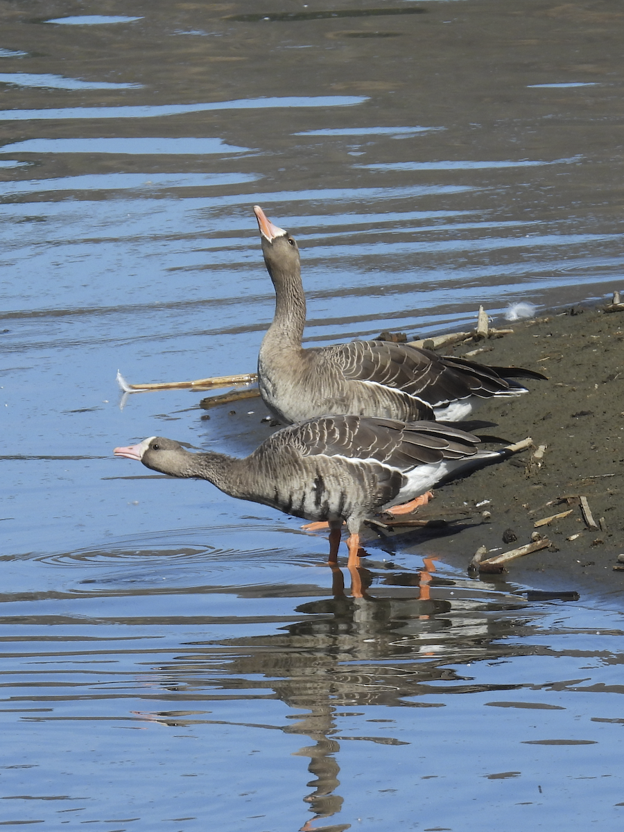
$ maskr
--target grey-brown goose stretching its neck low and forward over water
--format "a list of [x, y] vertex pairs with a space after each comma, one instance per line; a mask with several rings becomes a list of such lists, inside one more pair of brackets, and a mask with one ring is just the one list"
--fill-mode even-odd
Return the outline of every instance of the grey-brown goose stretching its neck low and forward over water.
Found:
[[150, 437], [118, 457], [137, 459], [173, 477], [207, 479], [232, 497], [263, 503], [306, 520], [329, 522], [329, 562], [336, 562], [343, 520], [349, 567], [359, 565], [359, 533], [370, 515], [422, 494], [462, 468], [506, 458], [478, 449], [470, 433], [435, 422], [325, 416], [282, 428], [244, 459], [189, 453]]

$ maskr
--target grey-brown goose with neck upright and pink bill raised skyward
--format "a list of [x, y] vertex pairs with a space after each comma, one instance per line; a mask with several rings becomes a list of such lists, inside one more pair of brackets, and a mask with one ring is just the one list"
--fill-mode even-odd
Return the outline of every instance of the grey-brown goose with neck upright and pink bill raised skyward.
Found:
[[510, 379], [546, 378], [385, 341], [303, 349], [305, 294], [297, 243], [260, 206], [254, 211], [275, 286], [275, 318], [260, 347], [258, 381], [265, 404], [281, 422], [334, 414], [456, 422], [483, 399], [527, 393]]

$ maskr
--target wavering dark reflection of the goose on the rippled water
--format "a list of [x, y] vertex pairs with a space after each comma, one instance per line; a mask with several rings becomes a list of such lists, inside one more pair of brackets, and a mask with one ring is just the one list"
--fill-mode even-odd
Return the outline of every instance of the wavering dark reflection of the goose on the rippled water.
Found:
[[[224, 692], [238, 700], [245, 697], [246, 686], [254, 689], [254, 700], [263, 698], [258, 689], [264, 688], [267, 698], [307, 713], [287, 715], [286, 725], [259, 725], [206, 719], [207, 712], [197, 710], [135, 712], [141, 720], [170, 727], [249, 726], [309, 737], [311, 742], [294, 752], [310, 759], [307, 769], [312, 775], [307, 783], [311, 791], [301, 800], [313, 817], [305, 820], [301, 832], [349, 829], [344, 823], [316, 825], [343, 810], [339, 754], [344, 743], [406, 744], [385, 731], [340, 733], [345, 719], [362, 716], [350, 708], [443, 707], [442, 701], [422, 697], [522, 687], [477, 686], [472, 677], [460, 676], [448, 666], [450, 657], [458, 664], [508, 656], [510, 650], [522, 652], [518, 645], [492, 644], [508, 631], [518, 631], [517, 617], [497, 621], [492, 612], [525, 607], [522, 597], [488, 592], [482, 582], [441, 574], [435, 556], [424, 557], [423, 567], [414, 572], [372, 558], [369, 567], [349, 572], [358, 581], [361, 597], [349, 594], [346, 571], [334, 566], [331, 595], [296, 607], [300, 621], [272, 635], [223, 639], [217, 645], [193, 641], [191, 652], [159, 667], [161, 688], [186, 701], [223, 700]], [[383, 721], [391, 729], [393, 721]]]

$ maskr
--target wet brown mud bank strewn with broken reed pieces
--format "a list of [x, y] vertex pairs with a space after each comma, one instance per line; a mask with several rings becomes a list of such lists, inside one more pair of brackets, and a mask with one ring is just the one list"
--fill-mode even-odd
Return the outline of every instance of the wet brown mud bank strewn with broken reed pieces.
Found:
[[[468, 567], [479, 547], [493, 557], [530, 542], [537, 532], [552, 545], [509, 562], [500, 576], [482, 579], [622, 602], [624, 571], [614, 567], [624, 566], [617, 562], [624, 552], [624, 312], [577, 307], [513, 324], [513, 330], [440, 351], [465, 355], [483, 349], [474, 356], [483, 364], [515, 364], [547, 375], [547, 381], [527, 382], [530, 394], [488, 402], [476, 414], [495, 423], [476, 429], [479, 436], [504, 443], [530, 436], [534, 448], [438, 488], [433, 502], [414, 515], [431, 518], [430, 526], [380, 533], [388, 533], [403, 552]], [[563, 516], [536, 527], [554, 515]], [[448, 519], [440, 525], [440, 518]]]

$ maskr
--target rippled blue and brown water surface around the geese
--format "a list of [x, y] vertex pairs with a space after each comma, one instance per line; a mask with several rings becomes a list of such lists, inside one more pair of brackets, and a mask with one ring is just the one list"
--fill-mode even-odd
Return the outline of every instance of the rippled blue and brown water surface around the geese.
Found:
[[255, 203], [300, 242], [309, 344], [622, 288], [622, 7], [0, 23], [0, 825], [620, 829], [619, 597], [527, 602], [371, 537], [354, 599], [324, 537], [111, 448], [273, 429], [115, 383], [255, 369]]

